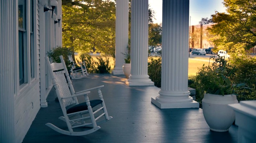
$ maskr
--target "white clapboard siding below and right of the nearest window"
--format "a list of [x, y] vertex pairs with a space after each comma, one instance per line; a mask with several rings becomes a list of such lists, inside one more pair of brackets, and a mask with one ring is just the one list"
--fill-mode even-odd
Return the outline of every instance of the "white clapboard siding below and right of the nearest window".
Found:
[[[23, 88], [19, 89], [18, 94], [14, 97], [14, 125], [15, 125], [15, 141], [17, 143], [22, 142], [29, 127], [36, 117], [37, 112], [40, 109], [40, 78], [39, 78], [39, 12], [38, 12], [38, 0], [34, 1], [34, 38], [36, 50], [35, 62], [36, 71], [35, 78], [29, 80]], [[28, 23], [30, 19], [28, 19]], [[17, 31], [18, 32], [18, 31]], [[17, 51], [18, 52], [18, 51]], [[18, 60], [18, 59], [17, 59]], [[18, 61], [17, 61], [18, 62]], [[12, 133], [13, 134], [13, 133]]]

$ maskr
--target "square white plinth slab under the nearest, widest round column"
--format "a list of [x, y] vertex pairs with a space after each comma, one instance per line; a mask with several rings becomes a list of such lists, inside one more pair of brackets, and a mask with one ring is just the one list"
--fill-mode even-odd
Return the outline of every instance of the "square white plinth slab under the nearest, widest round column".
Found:
[[187, 102], [187, 103], [162, 103], [156, 100], [156, 98], [151, 97], [151, 102], [155, 104], [160, 109], [169, 109], [169, 108], [199, 108], [199, 103], [196, 101]]

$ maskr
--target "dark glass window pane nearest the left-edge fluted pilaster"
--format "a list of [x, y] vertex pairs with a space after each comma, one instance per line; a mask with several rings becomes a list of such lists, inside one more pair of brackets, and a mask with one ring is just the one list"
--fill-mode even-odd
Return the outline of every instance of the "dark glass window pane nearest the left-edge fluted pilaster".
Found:
[[26, 80], [26, 1], [19, 0], [18, 5], [18, 25], [19, 25], [19, 77], [20, 85], [27, 82]]

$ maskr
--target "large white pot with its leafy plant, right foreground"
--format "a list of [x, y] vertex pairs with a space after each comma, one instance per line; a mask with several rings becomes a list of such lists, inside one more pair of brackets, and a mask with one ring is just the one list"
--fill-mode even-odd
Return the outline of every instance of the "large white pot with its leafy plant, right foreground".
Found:
[[236, 90], [246, 88], [244, 83], [233, 84], [235, 67], [230, 66], [224, 57], [213, 59], [212, 65], [199, 68], [196, 73], [198, 87], [204, 91], [203, 114], [210, 130], [226, 132], [235, 120], [235, 112], [228, 104], [238, 103]]

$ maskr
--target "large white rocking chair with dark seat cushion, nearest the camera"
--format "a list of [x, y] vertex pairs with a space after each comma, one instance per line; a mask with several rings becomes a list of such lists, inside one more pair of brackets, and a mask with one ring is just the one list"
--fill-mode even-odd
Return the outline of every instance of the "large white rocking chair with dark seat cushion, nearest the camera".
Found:
[[[111, 116], [108, 116], [108, 112], [100, 90], [100, 88], [104, 87], [104, 85], [75, 93], [72, 82], [68, 76], [68, 70], [65, 65], [65, 61], [63, 60], [63, 57], [60, 56], [61, 63], [51, 64], [48, 57], [46, 57], [45, 60], [47, 67], [50, 69], [52, 83], [56, 90], [58, 99], [60, 101], [61, 110], [64, 115], [64, 117], [59, 117], [59, 119], [66, 122], [68, 126], [68, 131], [60, 129], [51, 123], [46, 123], [45, 125], [62, 134], [71, 136], [82, 136], [99, 130], [100, 126], [98, 125], [112, 119]], [[90, 93], [90, 90], [93, 89], [98, 90], [98, 95], [100, 99], [90, 101], [88, 98], [88, 93]], [[76, 97], [81, 95], [84, 95], [85, 102], [78, 104]], [[66, 107], [72, 104], [75, 105], [66, 110]], [[95, 111], [92, 111], [92, 108], [96, 108], [97, 105], [101, 105], [101, 107]], [[103, 111], [103, 113], [100, 114], [98, 113], [99, 111]], [[95, 118], [96, 113], [100, 115], [97, 114], [97, 117]], [[104, 116], [105, 119], [97, 121], [102, 116]], [[86, 120], [91, 120], [91, 122], [85, 122]], [[92, 127], [92, 129], [81, 132], [74, 132], [73, 129], [77, 127]]]

